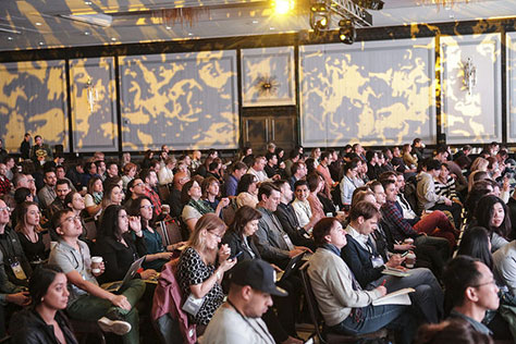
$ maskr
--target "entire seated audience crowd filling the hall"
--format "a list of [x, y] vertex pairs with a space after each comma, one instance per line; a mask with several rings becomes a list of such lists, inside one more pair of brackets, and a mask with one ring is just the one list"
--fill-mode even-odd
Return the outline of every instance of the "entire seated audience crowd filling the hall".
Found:
[[306, 322], [352, 341], [516, 339], [516, 161], [496, 143], [65, 161], [30, 142], [0, 162], [8, 343], [78, 343], [83, 327], [304, 343]]

